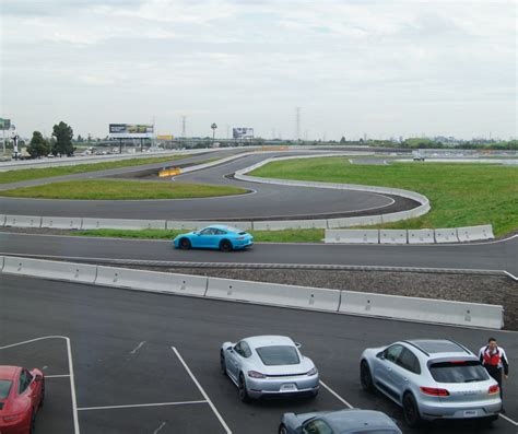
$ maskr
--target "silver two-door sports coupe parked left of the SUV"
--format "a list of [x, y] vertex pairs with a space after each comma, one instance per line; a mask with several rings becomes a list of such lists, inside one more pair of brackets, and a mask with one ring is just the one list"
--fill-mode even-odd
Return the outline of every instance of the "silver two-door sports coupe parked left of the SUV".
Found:
[[223, 343], [221, 371], [239, 391], [242, 401], [250, 398], [307, 395], [316, 397], [318, 371], [301, 354], [292, 339], [284, 336], [256, 336]]

